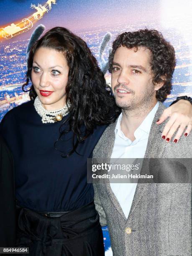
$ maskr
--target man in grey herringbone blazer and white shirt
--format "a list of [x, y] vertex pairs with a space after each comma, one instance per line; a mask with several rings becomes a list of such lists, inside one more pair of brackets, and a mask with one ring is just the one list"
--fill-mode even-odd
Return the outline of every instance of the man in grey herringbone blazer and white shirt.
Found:
[[[173, 46], [156, 30], [116, 38], [109, 70], [122, 113], [106, 128], [93, 159], [191, 158], [191, 133], [186, 130], [179, 141], [168, 133], [162, 140], [166, 122], [156, 124], [165, 109], [161, 102], [172, 88], [175, 64]], [[100, 179], [94, 189], [113, 256], [191, 255], [190, 184], [110, 184], [109, 179]]]

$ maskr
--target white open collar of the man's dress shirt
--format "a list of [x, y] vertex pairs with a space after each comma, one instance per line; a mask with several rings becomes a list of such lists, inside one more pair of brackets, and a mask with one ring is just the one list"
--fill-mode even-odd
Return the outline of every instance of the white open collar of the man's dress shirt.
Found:
[[[140, 133], [139, 130], [144, 131], [147, 134], [150, 133], [151, 125], [153, 123], [154, 116], [155, 116], [155, 113], [156, 113], [158, 107], [159, 107], [159, 102], [156, 103], [154, 108], [148, 113], [148, 115], [143, 120], [141, 125], [139, 125], [139, 127], [136, 129], [136, 131], [134, 133], [135, 137], [137, 137], [138, 133]], [[122, 113], [118, 117], [118, 121], [117, 121], [117, 124], [116, 124], [116, 127], [115, 127], [115, 136], [118, 134], [119, 136], [123, 137], [125, 140], [126, 139], [128, 140], [128, 138], [121, 131], [121, 127], [120, 127], [121, 120], [122, 120]]]

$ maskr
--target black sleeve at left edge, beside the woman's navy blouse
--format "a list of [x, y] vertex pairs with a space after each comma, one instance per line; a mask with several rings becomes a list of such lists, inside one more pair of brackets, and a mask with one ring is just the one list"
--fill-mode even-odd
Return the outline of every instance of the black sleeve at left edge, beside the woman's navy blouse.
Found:
[[15, 246], [15, 181], [13, 157], [0, 136], [0, 247]]

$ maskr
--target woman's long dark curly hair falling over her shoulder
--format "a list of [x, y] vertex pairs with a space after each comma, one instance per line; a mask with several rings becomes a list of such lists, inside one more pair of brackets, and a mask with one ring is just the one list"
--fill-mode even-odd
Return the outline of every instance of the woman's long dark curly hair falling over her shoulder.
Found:
[[[59, 137], [60, 139], [63, 134], [69, 131], [74, 133], [72, 151], [62, 154], [62, 156], [66, 157], [76, 151], [78, 144], [93, 133], [96, 125], [113, 123], [120, 110], [116, 107], [114, 98], [106, 90], [104, 74], [98, 67], [97, 60], [92, 55], [87, 44], [81, 38], [62, 27], [52, 28], [47, 31], [32, 46], [28, 55], [28, 70], [23, 90], [31, 80], [33, 56], [40, 47], [64, 53], [69, 66], [66, 86], [67, 102], [70, 102], [70, 106], [68, 105], [69, 117], [62, 123]], [[34, 100], [37, 96], [33, 84], [29, 95], [31, 100]], [[69, 122], [69, 129], [62, 131], [64, 130], [62, 126], [67, 122]], [[82, 125], [84, 125], [85, 129], [81, 128]], [[75, 136], [77, 139], [75, 139]]]

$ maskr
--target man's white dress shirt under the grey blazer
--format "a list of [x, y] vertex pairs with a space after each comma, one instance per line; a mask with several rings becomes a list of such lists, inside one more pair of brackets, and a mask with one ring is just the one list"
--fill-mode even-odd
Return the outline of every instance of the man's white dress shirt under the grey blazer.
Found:
[[[121, 131], [120, 123], [122, 114], [120, 114], [118, 117], [117, 125], [115, 127], [115, 143], [111, 159], [144, 158], [151, 124], [158, 107], [159, 102], [156, 103], [151, 112], [148, 113], [141, 125], [139, 125], [139, 127], [136, 129], [134, 132], [134, 137], [136, 139], [134, 141], [131, 141], [129, 138], [127, 138]], [[120, 203], [125, 217], [128, 218], [137, 183], [110, 183], [110, 186]]]

